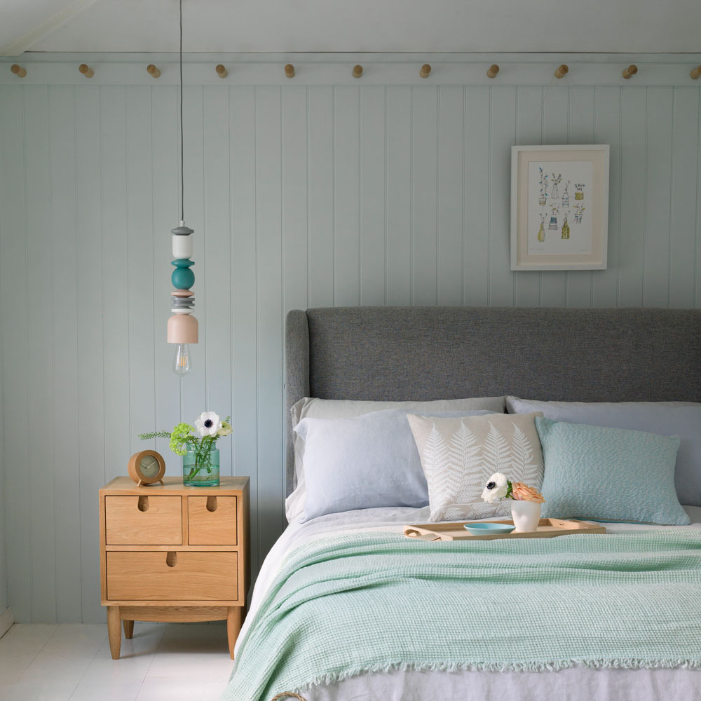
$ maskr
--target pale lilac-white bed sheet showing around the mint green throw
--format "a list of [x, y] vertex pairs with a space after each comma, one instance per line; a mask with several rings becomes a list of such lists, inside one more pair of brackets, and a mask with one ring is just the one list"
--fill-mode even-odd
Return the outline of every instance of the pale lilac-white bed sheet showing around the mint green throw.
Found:
[[[699, 528], [701, 508], [684, 507]], [[340, 531], [391, 531], [405, 524], [428, 521], [429, 508], [381, 508], [329, 514], [304, 524], [292, 522], [263, 565], [254, 587], [250, 611], [236, 644], [245, 633], [285, 555]], [[484, 519], [489, 520], [489, 519]], [[629, 529], [679, 528], [607, 523], [609, 532]], [[701, 631], [699, 632], [701, 634]], [[557, 672], [374, 672], [301, 692], [307, 701], [701, 701], [701, 672], [693, 669], [589, 669], [572, 667]]]

